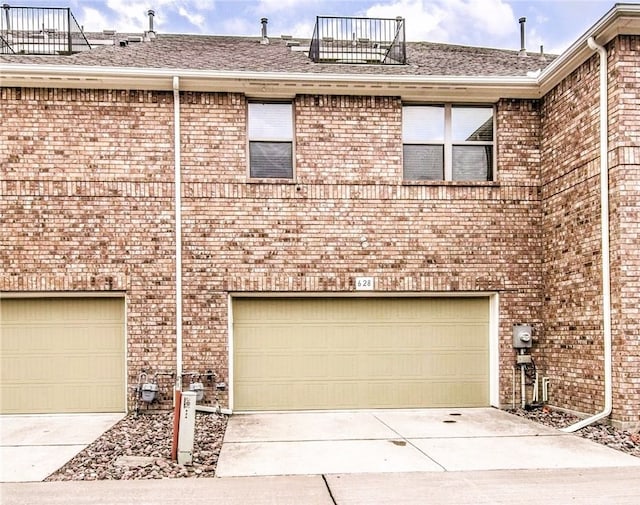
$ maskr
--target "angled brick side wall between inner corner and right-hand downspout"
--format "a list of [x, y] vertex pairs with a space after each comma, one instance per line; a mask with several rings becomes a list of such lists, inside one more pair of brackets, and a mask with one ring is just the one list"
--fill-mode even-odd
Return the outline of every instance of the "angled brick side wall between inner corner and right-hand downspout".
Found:
[[602, 396], [597, 57], [542, 106], [543, 371], [550, 402], [595, 413]]

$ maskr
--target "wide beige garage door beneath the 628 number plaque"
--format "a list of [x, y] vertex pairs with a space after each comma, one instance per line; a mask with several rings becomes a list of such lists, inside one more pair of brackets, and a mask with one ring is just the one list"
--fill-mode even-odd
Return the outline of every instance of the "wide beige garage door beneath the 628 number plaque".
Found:
[[489, 405], [488, 298], [238, 298], [234, 408]]

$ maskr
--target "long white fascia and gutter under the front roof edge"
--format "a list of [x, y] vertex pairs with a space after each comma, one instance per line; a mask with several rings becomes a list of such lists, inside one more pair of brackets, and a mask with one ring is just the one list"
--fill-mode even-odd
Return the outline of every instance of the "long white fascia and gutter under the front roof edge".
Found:
[[380, 76], [228, 72], [185, 69], [0, 64], [1, 86], [172, 89], [240, 92], [255, 98], [292, 98], [297, 94], [399, 96], [404, 100], [538, 98], [533, 77]]

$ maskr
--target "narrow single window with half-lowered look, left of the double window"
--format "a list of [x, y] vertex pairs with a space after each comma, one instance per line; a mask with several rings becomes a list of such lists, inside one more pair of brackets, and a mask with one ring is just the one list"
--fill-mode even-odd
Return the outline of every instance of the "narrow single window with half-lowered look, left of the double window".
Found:
[[290, 103], [249, 103], [249, 173], [293, 177], [293, 108]]

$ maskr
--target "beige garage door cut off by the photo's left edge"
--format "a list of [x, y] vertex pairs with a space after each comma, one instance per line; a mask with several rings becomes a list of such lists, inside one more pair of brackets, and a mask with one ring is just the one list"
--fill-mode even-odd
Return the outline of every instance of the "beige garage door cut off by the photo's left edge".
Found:
[[120, 298], [0, 300], [0, 411], [123, 412]]

